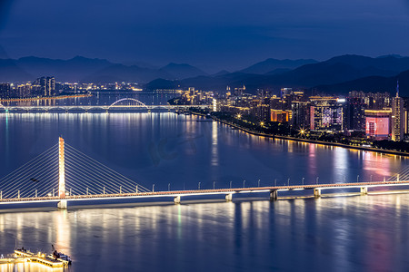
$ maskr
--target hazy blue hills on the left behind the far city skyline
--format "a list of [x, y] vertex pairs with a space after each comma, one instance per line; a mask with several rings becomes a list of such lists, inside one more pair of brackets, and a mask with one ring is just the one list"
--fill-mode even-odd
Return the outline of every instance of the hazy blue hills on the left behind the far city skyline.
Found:
[[0, 59], [0, 82], [34, 81], [37, 77], [45, 75], [54, 75], [57, 81], [71, 83], [148, 83], [157, 78], [185, 79], [206, 75], [206, 73], [189, 64], [169, 63], [158, 69], [111, 63], [103, 59], [90, 59], [82, 56], [69, 60], [35, 56], [18, 60]]

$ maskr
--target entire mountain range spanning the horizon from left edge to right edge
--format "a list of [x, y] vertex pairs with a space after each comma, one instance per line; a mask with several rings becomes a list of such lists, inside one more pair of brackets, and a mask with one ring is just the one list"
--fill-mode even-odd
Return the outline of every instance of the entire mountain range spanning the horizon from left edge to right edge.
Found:
[[224, 92], [246, 86], [277, 91], [283, 87], [304, 88], [316, 92], [343, 94], [352, 90], [394, 92], [396, 80], [401, 92], [409, 95], [409, 57], [385, 55], [367, 57], [347, 54], [318, 62], [312, 59], [276, 60], [260, 63], [230, 73], [205, 73], [186, 63], [169, 63], [164, 67], [137, 63], [112, 63], [104, 59], [76, 56], [69, 60], [38, 58], [0, 59], [0, 82], [34, 81], [54, 75], [59, 82], [144, 83], [145, 89], [195, 87]]

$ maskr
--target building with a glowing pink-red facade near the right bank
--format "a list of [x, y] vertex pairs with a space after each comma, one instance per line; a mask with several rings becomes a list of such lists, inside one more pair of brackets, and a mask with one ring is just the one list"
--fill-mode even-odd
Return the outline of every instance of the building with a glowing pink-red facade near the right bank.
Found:
[[365, 111], [366, 137], [374, 140], [388, 140], [391, 134], [391, 110]]

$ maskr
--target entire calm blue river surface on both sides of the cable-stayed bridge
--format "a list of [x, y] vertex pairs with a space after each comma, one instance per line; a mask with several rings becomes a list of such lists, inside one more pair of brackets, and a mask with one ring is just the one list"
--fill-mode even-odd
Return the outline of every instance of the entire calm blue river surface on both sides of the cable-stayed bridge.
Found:
[[[53, 146], [58, 136], [146, 188], [227, 188], [383, 180], [408, 160], [274, 141], [175, 113], [0, 114], [0, 176]], [[359, 178], [357, 176], [359, 175]], [[401, 176], [403, 177], [403, 176]], [[73, 271], [404, 271], [409, 195], [332, 199], [265, 196], [162, 207], [15, 210], [0, 213], [0, 253], [15, 239], [50, 245]], [[182, 199], [183, 201], [183, 199]], [[10, 267], [1, 267], [7, 271]], [[15, 267], [39, 271], [38, 267]], [[3, 269], [3, 270], [2, 270]], [[9, 270], [12, 271], [12, 270]]]

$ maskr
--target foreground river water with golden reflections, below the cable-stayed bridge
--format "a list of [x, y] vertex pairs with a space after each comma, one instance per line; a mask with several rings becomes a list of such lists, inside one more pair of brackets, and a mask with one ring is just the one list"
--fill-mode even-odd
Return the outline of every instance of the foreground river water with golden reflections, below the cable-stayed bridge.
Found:
[[402, 271], [408, 207], [402, 194], [19, 211], [0, 214], [0, 253], [17, 238], [32, 250], [55, 244], [75, 260], [72, 271]]

